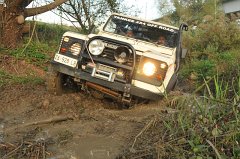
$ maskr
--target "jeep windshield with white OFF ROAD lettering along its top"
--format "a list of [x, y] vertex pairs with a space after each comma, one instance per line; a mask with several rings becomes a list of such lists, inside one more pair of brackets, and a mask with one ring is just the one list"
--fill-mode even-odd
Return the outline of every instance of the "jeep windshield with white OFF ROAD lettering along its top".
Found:
[[140, 39], [156, 45], [176, 47], [178, 30], [154, 23], [113, 15], [104, 27], [104, 31]]

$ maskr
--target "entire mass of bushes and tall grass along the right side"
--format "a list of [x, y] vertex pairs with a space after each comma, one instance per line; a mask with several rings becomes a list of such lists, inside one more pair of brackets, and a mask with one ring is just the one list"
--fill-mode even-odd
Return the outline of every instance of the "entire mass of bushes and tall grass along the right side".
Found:
[[201, 5], [201, 14], [183, 16], [195, 29], [184, 34], [189, 54], [180, 77], [201, 93], [180, 97], [172, 106], [177, 113], [161, 121], [159, 158], [240, 158], [240, 27], [219, 10], [211, 14], [210, 3], [192, 4], [188, 11]]

